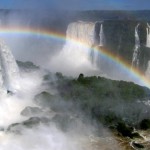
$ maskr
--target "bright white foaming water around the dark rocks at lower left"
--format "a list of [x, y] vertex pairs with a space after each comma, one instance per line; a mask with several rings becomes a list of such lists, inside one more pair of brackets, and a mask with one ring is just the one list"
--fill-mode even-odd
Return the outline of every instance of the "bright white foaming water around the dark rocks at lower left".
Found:
[[[41, 91], [43, 73], [40, 71], [21, 72], [20, 92], [6, 95], [0, 101], [0, 127], [5, 129], [10, 124], [22, 122], [28, 118], [20, 115], [26, 106], [34, 106], [33, 98]], [[64, 106], [65, 107], [65, 106]], [[93, 126], [78, 120], [69, 126], [68, 132], [60, 130], [55, 122], [33, 128], [17, 127], [21, 134], [0, 131], [1, 150], [99, 150], [119, 149], [118, 143], [111, 134], [102, 127], [107, 137], [96, 137]], [[112, 145], [113, 143], [113, 145]]]

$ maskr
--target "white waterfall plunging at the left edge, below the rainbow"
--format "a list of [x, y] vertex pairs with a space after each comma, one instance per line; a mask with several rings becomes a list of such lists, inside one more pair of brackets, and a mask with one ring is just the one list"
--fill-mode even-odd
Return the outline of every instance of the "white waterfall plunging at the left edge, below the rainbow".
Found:
[[3, 41], [0, 41], [0, 63], [0, 86], [4, 86], [7, 92], [16, 92], [19, 89], [19, 69], [14, 56]]

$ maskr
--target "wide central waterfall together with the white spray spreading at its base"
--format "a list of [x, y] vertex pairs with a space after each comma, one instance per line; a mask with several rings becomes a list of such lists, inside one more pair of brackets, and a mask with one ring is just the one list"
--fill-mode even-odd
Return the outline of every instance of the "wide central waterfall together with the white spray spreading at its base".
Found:
[[73, 76], [81, 72], [85, 74], [97, 72], [90, 58], [91, 47], [94, 45], [94, 30], [95, 23], [92, 22], [70, 23], [62, 51], [50, 61], [51, 70]]

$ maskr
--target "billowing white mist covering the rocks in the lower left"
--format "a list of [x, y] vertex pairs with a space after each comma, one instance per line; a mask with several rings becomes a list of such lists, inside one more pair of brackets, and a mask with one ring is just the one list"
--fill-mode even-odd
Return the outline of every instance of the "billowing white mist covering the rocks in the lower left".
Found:
[[[99, 149], [102, 145], [105, 149], [114, 143], [114, 148], [119, 149], [117, 141], [102, 125], [99, 125], [99, 130], [97, 123], [93, 124], [90, 116], [85, 116], [80, 108], [70, 110], [70, 106], [73, 105], [71, 102], [65, 102], [57, 97], [50, 106], [47, 104], [45, 106], [44, 101], [41, 101], [42, 103], [35, 101], [35, 97], [39, 97], [36, 95], [42, 91], [59, 94], [57, 89], [47, 86], [47, 82], [43, 81], [46, 74], [47, 71], [44, 70], [22, 67], [20, 89], [13, 95], [1, 96], [0, 148], [3, 150], [10, 148], [13, 150], [91, 150]], [[52, 76], [51, 80], [57, 78]], [[38, 108], [39, 112], [34, 113], [34, 108]], [[102, 145], [99, 145], [99, 142]]]

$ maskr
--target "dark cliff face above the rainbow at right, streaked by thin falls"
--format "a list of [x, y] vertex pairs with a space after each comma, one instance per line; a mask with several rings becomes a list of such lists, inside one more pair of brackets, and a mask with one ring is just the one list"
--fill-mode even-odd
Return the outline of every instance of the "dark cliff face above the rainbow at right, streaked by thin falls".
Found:
[[[134, 55], [138, 59], [135, 65], [142, 72], [147, 70], [150, 59], [149, 29], [147, 22], [133, 20], [104, 21], [105, 47], [123, 57], [132, 65]], [[137, 54], [134, 51], [137, 49]]]

